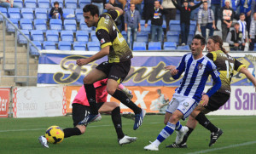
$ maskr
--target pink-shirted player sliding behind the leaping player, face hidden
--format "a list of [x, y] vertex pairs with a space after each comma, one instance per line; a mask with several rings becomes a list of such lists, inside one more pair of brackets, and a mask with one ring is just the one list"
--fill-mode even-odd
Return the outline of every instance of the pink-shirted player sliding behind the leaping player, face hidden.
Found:
[[[115, 102], [107, 102], [108, 93], [106, 91], [108, 79], [103, 79], [94, 83], [96, 87], [96, 101], [98, 102], [97, 108], [99, 108], [100, 112], [111, 112], [113, 126], [116, 130], [118, 135], [118, 143], [119, 145], [129, 144], [137, 140], [137, 137], [130, 137], [123, 133], [122, 130], [122, 121], [120, 116], [120, 107], [118, 103]], [[129, 91], [123, 85], [120, 84], [119, 88], [124, 91]], [[127, 93], [131, 96], [131, 93]], [[72, 116], [73, 116], [73, 128], [65, 128], [64, 131], [64, 138], [68, 138], [73, 135], [80, 135], [84, 134], [87, 124], [84, 124], [82, 121], [84, 118], [88, 118], [90, 115], [90, 105], [87, 100], [84, 86], [79, 89], [79, 93], [76, 95], [75, 99], [73, 100], [73, 109], [72, 109]], [[49, 148], [47, 140], [44, 136], [40, 136], [38, 138], [41, 145], [44, 147]]]

